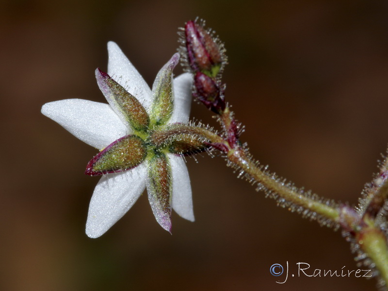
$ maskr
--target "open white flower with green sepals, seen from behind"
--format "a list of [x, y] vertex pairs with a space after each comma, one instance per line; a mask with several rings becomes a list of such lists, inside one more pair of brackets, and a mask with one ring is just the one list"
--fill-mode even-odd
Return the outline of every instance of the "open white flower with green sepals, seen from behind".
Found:
[[[97, 183], [90, 201], [86, 222], [86, 234], [89, 237], [97, 238], [105, 233], [132, 207], [145, 188], [158, 223], [164, 229], [171, 231], [171, 207], [181, 217], [194, 221], [189, 174], [182, 157], [166, 151], [159, 153], [158, 149], [146, 143], [146, 138], [150, 131], [157, 130], [159, 127], [188, 122], [192, 75], [185, 73], [171, 82], [171, 70], [178, 63], [179, 58], [176, 54], [158, 73], [151, 91], [146, 81], [115, 43], [108, 43], [108, 53], [108, 75], [124, 87], [131, 96], [136, 97], [146, 111], [141, 115], [129, 109], [127, 113], [130, 115], [134, 112], [135, 115], [141, 115], [140, 117], [148, 116], [149, 124], [143, 122], [141, 124], [143, 129], [134, 129], [130, 122], [134, 120], [136, 123], [140, 117], [126, 116], [123, 112], [125, 111], [123, 106], [126, 104], [120, 105], [120, 100], [113, 97], [116, 94], [113, 89], [117, 89], [118, 86], [110, 81], [112, 79], [108, 75], [98, 69], [96, 70], [97, 82], [110, 105], [83, 99], [66, 99], [46, 103], [42, 107], [42, 113], [83, 142], [101, 151], [88, 166], [93, 166], [98, 156], [101, 158], [101, 155], [104, 156], [104, 153], [110, 150], [111, 156], [104, 158], [105, 160], [112, 160], [116, 154], [123, 154], [114, 148], [121, 140], [129, 142], [133, 139], [141, 140], [139, 148], [135, 148], [136, 153], [141, 151], [146, 158], [133, 158], [130, 156], [131, 153], [127, 153], [129, 158], [125, 162], [129, 160], [132, 162], [127, 166], [128, 170], [115, 168], [97, 173], [104, 175]], [[167, 78], [170, 79], [167, 80]], [[112, 86], [116, 87], [112, 88]], [[165, 100], [170, 100], [170, 103], [161, 104], [163, 100], [157, 101], [157, 99], [161, 98], [162, 94], [168, 93], [168, 90], [171, 91], [171, 96], [170, 99]], [[161, 118], [158, 119], [158, 117]], [[120, 148], [121, 151], [124, 150], [124, 146]], [[136, 142], [135, 146], [138, 146]], [[125, 147], [125, 149], [128, 148], [132, 149], [130, 146]], [[104, 159], [101, 160], [104, 162]], [[131, 159], [137, 160], [133, 162]], [[123, 168], [122, 164], [119, 166]], [[88, 173], [88, 169], [86, 172]], [[93, 173], [96, 174], [96, 172]], [[163, 191], [165, 193], [161, 194], [160, 192]]]

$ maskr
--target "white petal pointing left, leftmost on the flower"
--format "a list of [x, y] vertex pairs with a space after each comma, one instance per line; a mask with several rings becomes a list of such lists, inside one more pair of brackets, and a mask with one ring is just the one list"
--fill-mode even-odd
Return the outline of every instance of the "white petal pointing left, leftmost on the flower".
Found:
[[65, 99], [43, 105], [42, 113], [81, 141], [102, 149], [130, 134], [111, 106], [83, 99]]

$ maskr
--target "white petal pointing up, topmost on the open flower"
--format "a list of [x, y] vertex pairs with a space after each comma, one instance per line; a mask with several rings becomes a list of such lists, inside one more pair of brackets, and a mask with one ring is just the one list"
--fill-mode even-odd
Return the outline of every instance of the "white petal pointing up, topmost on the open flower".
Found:
[[108, 75], [136, 97], [147, 112], [151, 107], [152, 93], [146, 81], [116, 43], [108, 42]]

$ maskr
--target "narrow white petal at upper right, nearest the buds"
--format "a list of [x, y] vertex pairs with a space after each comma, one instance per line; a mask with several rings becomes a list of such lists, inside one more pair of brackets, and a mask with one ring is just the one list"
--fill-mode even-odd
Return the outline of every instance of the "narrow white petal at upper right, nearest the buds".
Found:
[[174, 111], [169, 123], [189, 121], [193, 75], [184, 73], [174, 79]]

